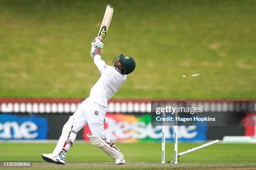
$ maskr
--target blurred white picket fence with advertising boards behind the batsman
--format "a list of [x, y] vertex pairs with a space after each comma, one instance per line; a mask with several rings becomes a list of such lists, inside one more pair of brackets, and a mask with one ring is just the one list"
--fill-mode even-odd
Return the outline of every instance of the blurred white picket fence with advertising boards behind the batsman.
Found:
[[[57, 140], [70, 115], [83, 99], [0, 99], [0, 140]], [[228, 110], [229, 100], [190, 100], [194, 107], [204, 105], [208, 112]], [[256, 102], [254, 107], [256, 107]], [[242, 121], [242, 120], [241, 120]], [[224, 136], [256, 136], [256, 112], [251, 112], [250, 125], [179, 126], [179, 140], [200, 142], [222, 140]], [[105, 133], [118, 142], [161, 141], [161, 126], [151, 126], [151, 100], [110, 100], [105, 118]], [[174, 140], [174, 127], [166, 128], [167, 141]], [[77, 135], [89, 141], [88, 125]]]

